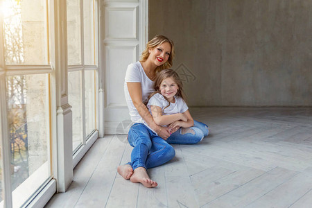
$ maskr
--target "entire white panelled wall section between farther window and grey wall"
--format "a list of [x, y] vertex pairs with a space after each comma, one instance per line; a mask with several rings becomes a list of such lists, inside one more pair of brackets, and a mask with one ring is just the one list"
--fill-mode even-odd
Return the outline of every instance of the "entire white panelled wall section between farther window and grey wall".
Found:
[[105, 0], [101, 3], [105, 135], [112, 135], [116, 134], [120, 123], [130, 120], [123, 83], [128, 65], [139, 60], [145, 48], [148, 0]]

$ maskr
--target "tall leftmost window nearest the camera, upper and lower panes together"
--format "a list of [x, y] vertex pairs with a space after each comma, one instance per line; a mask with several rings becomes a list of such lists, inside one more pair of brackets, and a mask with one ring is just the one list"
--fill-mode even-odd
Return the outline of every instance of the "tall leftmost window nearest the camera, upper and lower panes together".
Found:
[[[6, 99], [8, 118], [2, 121], [8, 129], [1, 130], [8, 132], [8, 138], [1, 138], [7, 139], [8, 146], [1, 148], [9, 148], [1, 159], [10, 162], [10, 177], [6, 177], [10, 190], [1, 186], [0, 200], [5, 191], [12, 206], [21, 207], [52, 177], [49, 19], [46, 0], [1, 3], [1, 66], [6, 71], [6, 93], [1, 99]], [[1, 177], [2, 173], [1, 169]]]

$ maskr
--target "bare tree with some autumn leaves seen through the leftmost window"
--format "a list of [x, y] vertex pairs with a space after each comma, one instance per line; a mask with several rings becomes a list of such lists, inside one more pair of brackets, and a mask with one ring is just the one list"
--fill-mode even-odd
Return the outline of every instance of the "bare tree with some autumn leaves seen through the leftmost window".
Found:
[[[24, 46], [19, 1], [4, 1], [3, 31], [5, 60], [7, 64], [24, 63]], [[26, 121], [25, 76], [10, 76], [6, 79], [8, 101], [8, 128], [11, 146], [11, 175], [15, 189], [28, 176], [28, 138]], [[2, 172], [2, 171], [1, 171]], [[2, 190], [1, 190], [2, 191]], [[2, 198], [0, 198], [2, 200]]]

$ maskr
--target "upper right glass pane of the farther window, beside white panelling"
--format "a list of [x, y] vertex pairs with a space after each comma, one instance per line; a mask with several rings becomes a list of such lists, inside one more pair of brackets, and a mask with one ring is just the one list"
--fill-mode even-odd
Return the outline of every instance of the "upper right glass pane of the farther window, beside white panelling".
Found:
[[85, 64], [95, 65], [94, 60], [94, 1], [83, 1], [83, 41], [85, 46]]

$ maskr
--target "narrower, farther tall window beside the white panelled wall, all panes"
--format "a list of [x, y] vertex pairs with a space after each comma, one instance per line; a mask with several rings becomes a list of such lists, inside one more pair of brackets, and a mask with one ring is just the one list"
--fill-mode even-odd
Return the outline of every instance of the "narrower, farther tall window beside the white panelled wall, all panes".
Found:
[[96, 130], [96, 24], [94, 0], [67, 0], [69, 105], [73, 152]]

